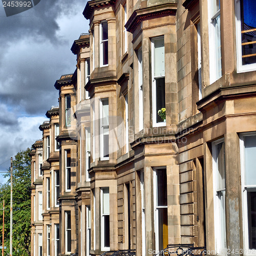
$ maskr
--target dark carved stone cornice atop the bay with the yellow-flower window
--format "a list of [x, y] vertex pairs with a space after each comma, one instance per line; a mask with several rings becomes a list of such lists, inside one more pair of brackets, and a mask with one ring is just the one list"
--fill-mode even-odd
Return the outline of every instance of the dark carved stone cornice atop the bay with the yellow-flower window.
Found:
[[142, 20], [147, 20], [157, 16], [176, 15], [176, 11], [177, 4], [172, 3], [138, 9], [133, 12], [125, 24], [125, 28], [127, 31], [133, 33]]

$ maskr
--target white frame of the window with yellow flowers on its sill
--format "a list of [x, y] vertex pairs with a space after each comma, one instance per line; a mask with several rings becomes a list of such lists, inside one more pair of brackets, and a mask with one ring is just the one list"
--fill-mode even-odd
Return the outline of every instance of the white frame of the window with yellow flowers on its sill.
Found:
[[[165, 74], [159, 77], [155, 77], [155, 41], [159, 39], [164, 39], [164, 36], [158, 36], [151, 39], [151, 57], [152, 57], [152, 113], [153, 113], [153, 127], [166, 126], [166, 122], [157, 122], [157, 113], [156, 113], [156, 79], [155, 78], [163, 78]], [[165, 62], [165, 61], [164, 61]], [[165, 63], [164, 63], [165, 66]], [[166, 97], [166, 93], [165, 93]], [[166, 108], [166, 102], [165, 102]]]

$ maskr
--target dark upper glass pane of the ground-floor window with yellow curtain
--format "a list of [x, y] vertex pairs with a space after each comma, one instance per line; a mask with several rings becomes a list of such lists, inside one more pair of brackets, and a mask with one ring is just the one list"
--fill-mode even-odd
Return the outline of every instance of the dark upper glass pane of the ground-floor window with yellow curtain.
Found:
[[157, 169], [157, 206], [167, 206], [166, 169]]

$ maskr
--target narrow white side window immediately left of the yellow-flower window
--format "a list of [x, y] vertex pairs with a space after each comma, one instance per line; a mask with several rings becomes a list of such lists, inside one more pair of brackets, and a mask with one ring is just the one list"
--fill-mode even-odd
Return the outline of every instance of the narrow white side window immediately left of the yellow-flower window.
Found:
[[142, 48], [138, 50], [138, 84], [139, 84], [139, 130], [143, 129], [143, 73], [142, 73]]

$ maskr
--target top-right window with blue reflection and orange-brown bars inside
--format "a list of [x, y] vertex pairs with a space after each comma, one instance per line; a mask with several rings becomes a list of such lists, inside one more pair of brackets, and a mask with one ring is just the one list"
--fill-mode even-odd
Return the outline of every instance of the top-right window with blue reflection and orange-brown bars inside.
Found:
[[238, 71], [256, 69], [256, 3], [236, 0]]

